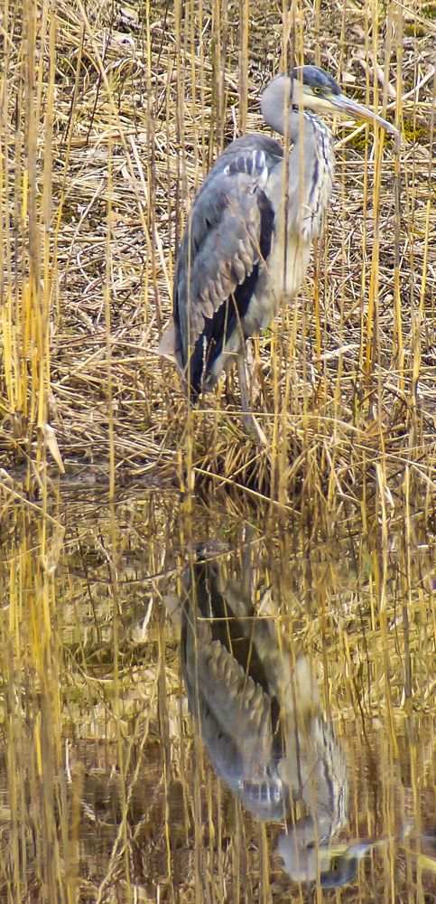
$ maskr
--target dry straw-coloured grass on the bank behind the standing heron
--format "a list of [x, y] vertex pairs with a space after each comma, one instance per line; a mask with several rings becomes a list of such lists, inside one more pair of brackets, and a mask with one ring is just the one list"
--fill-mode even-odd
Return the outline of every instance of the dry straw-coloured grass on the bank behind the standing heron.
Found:
[[[163, 4], [85, 11], [77, 3], [58, 5], [52, 21], [45, 6], [41, 16], [25, 6], [23, 19], [10, 7], [0, 384], [8, 468], [32, 473], [49, 450], [51, 474], [62, 463], [67, 476], [107, 479], [112, 459], [117, 480], [184, 483], [188, 442], [198, 483], [205, 470], [240, 481], [262, 458], [241, 429], [237, 400], [229, 406], [222, 391], [208, 400], [209, 414], [193, 412], [187, 440], [180, 383], [156, 346], [190, 199], [239, 121], [262, 127], [259, 91], [292, 24], [301, 58], [304, 24], [306, 61], [387, 104], [406, 139], [397, 159], [390, 139], [382, 149], [362, 127], [338, 133], [325, 240], [295, 311], [256, 347], [264, 391], [255, 407], [270, 447], [253, 480], [273, 494], [278, 481], [292, 497], [287, 476], [298, 473], [310, 492], [331, 481], [345, 492], [380, 455], [393, 475], [411, 461], [418, 478], [422, 469], [430, 476], [431, 18], [413, 3], [379, 17], [371, 6], [332, 7], [319, 44], [316, 4], [295, 5], [284, 31], [274, 5], [268, 15], [253, 10], [238, 69], [237, 8], [221, 19], [218, 7], [199, 15], [190, 6], [180, 17]], [[318, 462], [315, 479], [307, 458]]]

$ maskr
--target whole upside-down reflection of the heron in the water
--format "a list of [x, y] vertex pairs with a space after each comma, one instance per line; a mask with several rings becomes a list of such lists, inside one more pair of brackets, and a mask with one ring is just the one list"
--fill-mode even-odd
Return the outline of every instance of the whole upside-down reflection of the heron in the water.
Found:
[[[259, 608], [261, 614], [259, 614]], [[183, 579], [182, 671], [190, 711], [218, 776], [260, 820], [282, 821], [292, 879], [344, 884], [367, 845], [335, 843], [348, 818], [344, 752], [306, 655], [217, 561], [197, 555]], [[292, 818], [293, 801], [306, 814]]]

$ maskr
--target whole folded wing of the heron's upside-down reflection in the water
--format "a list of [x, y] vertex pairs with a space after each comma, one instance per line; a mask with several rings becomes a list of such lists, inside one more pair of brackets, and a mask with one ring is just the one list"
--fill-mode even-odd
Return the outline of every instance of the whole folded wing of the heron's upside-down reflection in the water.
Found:
[[251, 600], [233, 585], [229, 592], [217, 563], [207, 559], [185, 572], [183, 586], [182, 671], [203, 743], [218, 775], [252, 813], [280, 819], [289, 805], [278, 772], [281, 707], [256, 648]]

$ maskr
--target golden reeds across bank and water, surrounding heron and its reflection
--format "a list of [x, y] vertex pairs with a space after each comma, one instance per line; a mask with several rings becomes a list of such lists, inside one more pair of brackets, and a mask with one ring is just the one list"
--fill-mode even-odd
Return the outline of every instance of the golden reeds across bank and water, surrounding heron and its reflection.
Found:
[[[324, 898], [290, 886], [213, 776], [165, 598], [191, 541], [311, 651], [348, 756], [351, 837], [391, 838], [341, 900], [430, 904], [435, 259], [428, 0], [6, 0], [0, 76], [0, 900]], [[335, 124], [325, 236], [251, 352], [187, 408], [157, 345], [219, 151], [292, 61], [402, 127]], [[190, 491], [195, 489], [197, 494]]]

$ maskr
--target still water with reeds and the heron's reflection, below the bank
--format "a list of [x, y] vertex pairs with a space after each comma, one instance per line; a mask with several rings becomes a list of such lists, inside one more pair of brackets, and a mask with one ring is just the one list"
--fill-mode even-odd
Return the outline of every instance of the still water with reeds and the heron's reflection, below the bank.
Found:
[[429, 528], [382, 527], [9, 507], [0, 900], [436, 901]]

